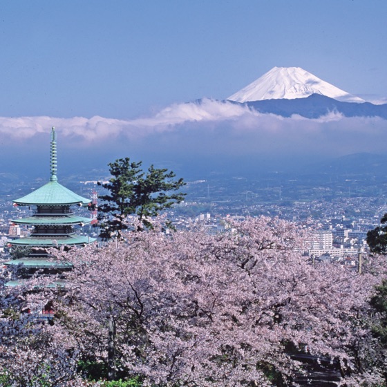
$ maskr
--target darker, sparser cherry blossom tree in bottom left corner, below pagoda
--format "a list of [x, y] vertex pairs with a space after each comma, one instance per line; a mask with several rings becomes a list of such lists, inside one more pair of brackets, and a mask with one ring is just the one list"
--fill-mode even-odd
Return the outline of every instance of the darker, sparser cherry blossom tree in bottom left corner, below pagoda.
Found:
[[44, 281], [30, 279], [6, 286], [17, 270], [3, 269], [0, 278], [0, 384], [61, 386], [76, 377], [76, 345], [60, 325], [42, 323], [36, 313], [47, 303], [41, 290]]

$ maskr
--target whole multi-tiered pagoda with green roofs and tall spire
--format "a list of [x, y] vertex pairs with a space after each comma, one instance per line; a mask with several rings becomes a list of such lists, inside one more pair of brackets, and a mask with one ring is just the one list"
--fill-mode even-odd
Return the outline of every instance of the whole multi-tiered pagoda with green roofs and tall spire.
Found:
[[[13, 223], [32, 227], [30, 236], [10, 241], [12, 247], [25, 247], [26, 256], [6, 263], [6, 265], [22, 264], [22, 279], [32, 276], [37, 271], [39, 274], [60, 274], [71, 270], [69, 263], [59, 263], [50, 258], [48, 249], [64, 245], [82, 246], [95, 240], [75, 233], [76, 225], [86, 225], [91, 223], [91, 219], [77, 216], [73, 207], [87, 206], [91, 200], [82, 198], [58, 182], [55, 127], [51, 131], [50, 181], [23, 198], [13, 200], [13, 203], [14, 206], [32, 207], [31, 216], [12, 220]], [[17, 285], [18, 282], [11, 281], [7, 285]]]

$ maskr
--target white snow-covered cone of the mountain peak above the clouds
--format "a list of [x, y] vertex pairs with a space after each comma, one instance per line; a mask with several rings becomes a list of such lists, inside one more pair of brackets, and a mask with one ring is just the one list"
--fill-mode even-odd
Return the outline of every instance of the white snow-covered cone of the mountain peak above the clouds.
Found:
[[236, 102], [293, 100], [321, 94], [342, 102], [365, 102], [300, 67], [274, 67], [256, 81], [227, 98]]

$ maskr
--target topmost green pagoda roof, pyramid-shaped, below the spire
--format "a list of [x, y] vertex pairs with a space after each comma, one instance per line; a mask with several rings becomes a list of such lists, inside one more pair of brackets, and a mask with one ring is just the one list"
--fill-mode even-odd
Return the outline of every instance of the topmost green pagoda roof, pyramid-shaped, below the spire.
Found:
[[91, 199], [83, 198], [53, 180], [13, 202], [17, 205], [87, 205]]

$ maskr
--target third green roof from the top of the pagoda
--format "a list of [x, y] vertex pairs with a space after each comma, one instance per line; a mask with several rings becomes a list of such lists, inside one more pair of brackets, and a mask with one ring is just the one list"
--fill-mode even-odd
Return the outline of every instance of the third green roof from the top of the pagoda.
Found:
[[15, 246], [37, 246], [37, 247], [53, 247], [56, 245], [88, 245], [95, 241], [95, 238], [82, 235], [69, 236], [29, 236], [28, 238], [19, 238], [10, 241], [11, 245]]

